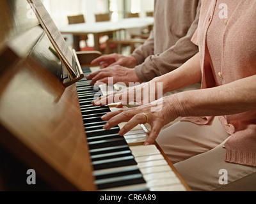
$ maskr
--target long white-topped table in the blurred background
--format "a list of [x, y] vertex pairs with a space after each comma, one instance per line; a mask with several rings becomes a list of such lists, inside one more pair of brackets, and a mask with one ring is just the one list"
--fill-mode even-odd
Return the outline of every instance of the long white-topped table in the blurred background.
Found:
[[113, 34], [116, 31], [148, 27], [154, 24], [154, 17], [124, 18], [117, 22], [93, 22], [83, 24], [70, 24], [60, 28], [62, 34], [73, 34], [74, 49], [79, 51], [79, 36], [93, 34], [94, 49], [100, 51], [99, 38], [103, 35]]

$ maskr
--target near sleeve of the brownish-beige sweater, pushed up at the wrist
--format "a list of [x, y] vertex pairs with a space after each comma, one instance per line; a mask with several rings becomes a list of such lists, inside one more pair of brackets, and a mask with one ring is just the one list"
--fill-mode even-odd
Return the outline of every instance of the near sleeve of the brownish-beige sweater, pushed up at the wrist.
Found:
[[159, 77], [179, 68], [184, 62], [198, 53], [198, 46], [196, 46], [191, 39], [198, 26], [200, 7], [201, 2], [198, 4], [195, 20], [189, 27], [186, 36], [180, 38], [175, 45], [162, 54], [150, 55], [142, 64], [135, 67], [136, 75], [142, 82], [148, 82], [155, 77]]

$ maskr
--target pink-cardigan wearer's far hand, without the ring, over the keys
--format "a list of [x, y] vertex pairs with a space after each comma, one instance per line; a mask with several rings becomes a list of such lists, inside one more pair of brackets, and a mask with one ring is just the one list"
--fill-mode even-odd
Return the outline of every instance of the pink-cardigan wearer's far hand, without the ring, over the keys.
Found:
[[123, 89], [108, 96], [102, 96], [92, 102], [95, 106], [104, 106], [111, 103], [120, 103], [119, 107], [130, 102], [145, 105], [163, 97], [163, 84], [154, 81]]

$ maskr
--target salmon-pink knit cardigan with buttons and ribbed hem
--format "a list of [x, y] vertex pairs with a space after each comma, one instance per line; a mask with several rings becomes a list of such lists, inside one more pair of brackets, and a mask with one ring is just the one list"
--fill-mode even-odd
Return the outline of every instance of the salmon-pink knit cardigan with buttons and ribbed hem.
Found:
[[[207, 31], [213, 17], [218, 17], [220, 3], [233, 4], [236, 10], [228, 19], [223, 36], [218, 36], [222, 45], [221, 75], [216, 76], [211, 68], [211, 56], [207, 48]], [[234, 5], [236, 4], [236, 5]], [[222, 84], [228, 84], [240, 78], [256, 75], [256, 1], [255, 0], [203, 0], [198, 29], [192, 41], [200, 50], [202, 67], [202, 89], [214, 87], [215, 78], [221, 77]], [[214, 26], [214, 25], [212, 25]], [[212, 27], [211, 27], [212, 29]], [[213, 27], [218, 29], [218, 27]], [[218, 42], [216, 42], [218, 43]], [[214, 76], [215, 75], [215, 76]], [[256, 94], [256, 90], [255, 90]], [[256, 101], [255, 101], [256, 103]], [[184, 120], [195, 124], [209, 124], [213, 117], [189, 117]], [[227, 149], [225, 161], [229, 163], [256, 166], [256, 110], [236, 115], [221, 116], [220, 121], [231, 136], [225, 143]]]

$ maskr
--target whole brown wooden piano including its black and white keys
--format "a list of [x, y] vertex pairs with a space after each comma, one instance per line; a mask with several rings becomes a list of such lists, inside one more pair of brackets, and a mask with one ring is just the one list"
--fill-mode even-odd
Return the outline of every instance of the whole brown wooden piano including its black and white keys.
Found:
[[[0, 1], [0, 191], [190, 191], [145, 126], [124, 137], [100, 117], [115, 106], [68, 73], [26, 0]], [[99, 52], [77, 52], [84, 76]], [[29, 185], [35, 170], [36, 185]]]

